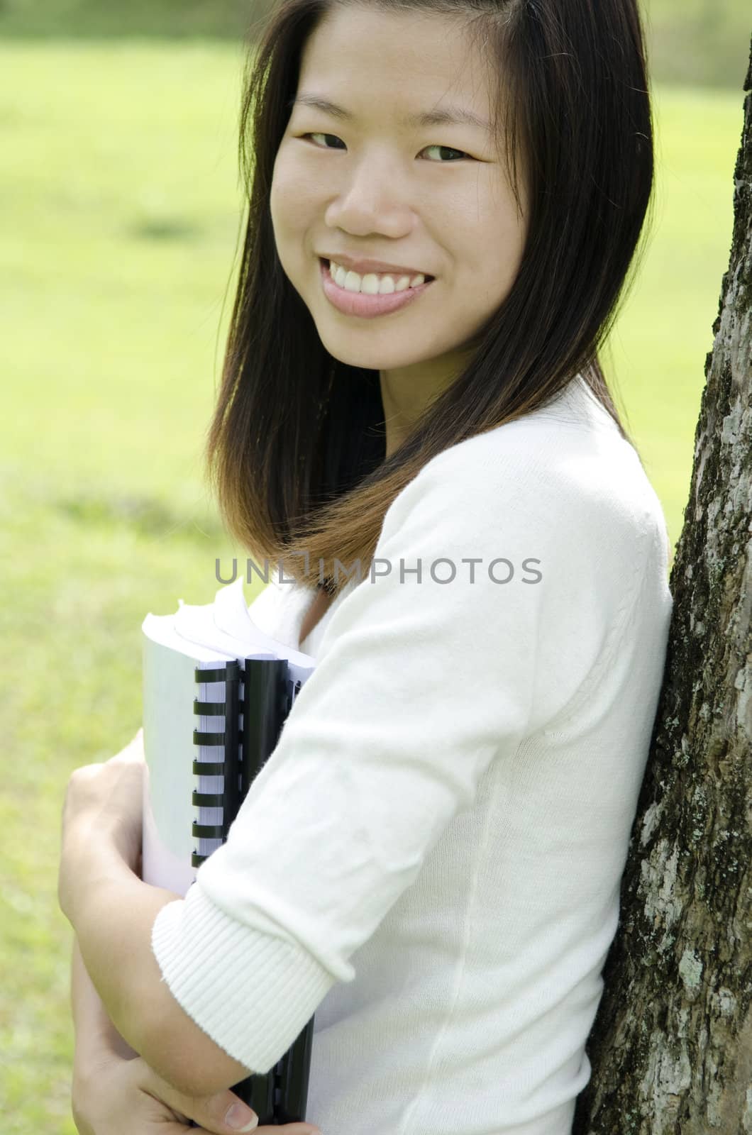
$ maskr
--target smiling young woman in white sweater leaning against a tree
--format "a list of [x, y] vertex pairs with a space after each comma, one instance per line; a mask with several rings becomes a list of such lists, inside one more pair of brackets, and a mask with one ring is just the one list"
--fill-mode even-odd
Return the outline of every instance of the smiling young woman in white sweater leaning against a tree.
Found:
[[598, 358], [636, 0], [282, 0], [241, 136], [210, 468], [317, 669], [184, 899], [137, 877], [137, 739], [74, 773], [80, 1129], [229, 1130], [315, 1012], [325, 1135], [568, 1135], [672, 605]]

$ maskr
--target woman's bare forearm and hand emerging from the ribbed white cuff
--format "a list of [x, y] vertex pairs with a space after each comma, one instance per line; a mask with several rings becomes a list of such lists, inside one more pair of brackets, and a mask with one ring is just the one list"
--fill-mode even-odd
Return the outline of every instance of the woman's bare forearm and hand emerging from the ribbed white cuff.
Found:
[[250, 1070], [182, 1009], [151, 949], [157, 914], [183, 900], [139, 877], [142, 742], [139, 731], [110, 760], [85, 765], [70, 776], [62, 809], [58, 901], [120, 1036], [173, 1087], [212, 1095], [245, 1079]]

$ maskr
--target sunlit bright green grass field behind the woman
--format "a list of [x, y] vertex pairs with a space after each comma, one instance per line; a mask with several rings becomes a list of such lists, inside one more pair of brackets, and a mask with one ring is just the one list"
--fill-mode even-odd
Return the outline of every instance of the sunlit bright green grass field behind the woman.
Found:
[[[227, 43], [0, 48], [3, 1135], [74, 1135], [68, 775], [140, 724], [145, 612], [209, 602], [216, 557], [242, 555], [200, 464], [236, 268], [240, 61]], [[742, 93], [661, 87], [657, 112], [655, 229], [605, 362], [674, 545]]]

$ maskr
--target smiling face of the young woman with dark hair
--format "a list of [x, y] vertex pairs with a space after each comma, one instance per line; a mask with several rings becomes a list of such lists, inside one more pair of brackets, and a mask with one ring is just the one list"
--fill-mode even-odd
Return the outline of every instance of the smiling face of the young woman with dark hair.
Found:
[[[342, 114], [293, 106], [271, 221], [282, 267], [341, 362], [437, 389], [459, 373], [462, 345], [508, 295], [525, 220], [482, 125], [491, 117], [488, 81], [461, 25], [435, 12], [335, 8], [309, 37], [298, 100], [324, 99]], [[408, 123], [444, 110], [481, 124]], [[346, 313], [327, 292], [346, 303], [348, 289], [332, 293], [320, 268], [337, 255], [392, 266], [398, 291], [412, 269], [434, 279], [396, 310], [374, 314], [364, 295], [357, 302], [367, 313]]]

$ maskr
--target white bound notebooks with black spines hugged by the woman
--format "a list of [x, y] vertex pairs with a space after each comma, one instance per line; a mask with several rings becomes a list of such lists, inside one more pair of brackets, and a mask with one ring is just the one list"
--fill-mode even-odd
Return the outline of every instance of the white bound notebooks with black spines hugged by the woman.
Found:
[[[185, 896], [227, 839], [316, 662], [253, 623], [242, 577], [214, 603], [178, 603], [172, 615], [148, 614], [141, 628], [142, 875]], [[306, 1119], [314, 1019], [269, 1073], [233, 1086], [260, 1126]]]

